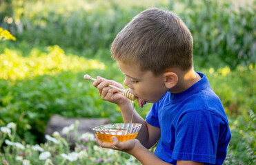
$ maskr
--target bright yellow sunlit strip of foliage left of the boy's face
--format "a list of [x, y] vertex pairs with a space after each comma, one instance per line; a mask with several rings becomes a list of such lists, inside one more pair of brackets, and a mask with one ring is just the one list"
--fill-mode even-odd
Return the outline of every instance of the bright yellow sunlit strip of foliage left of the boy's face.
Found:
[[5, 49], [0, 60], [0, 72], [3, 73], [0, 78], [6, 80], [58, 74], [70, 70], [79, 72], [86, 69], [105, 69], [105, 65], [99, 61], [86, 60], [72, 54], [66, 55], [57, 45], [47, 47], [47, 52], [33, 48], [27, 57], [21, 56], [20, 52]]

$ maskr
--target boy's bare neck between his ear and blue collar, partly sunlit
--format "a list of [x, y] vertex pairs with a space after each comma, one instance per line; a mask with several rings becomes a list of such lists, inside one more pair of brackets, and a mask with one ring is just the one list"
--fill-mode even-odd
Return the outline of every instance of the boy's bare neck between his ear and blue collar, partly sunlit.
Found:
[[177, 85], [170, 89], [170, 92], [172, 92], [173, 94], [178, 94], [182, 91], [186, 91], [186, 89], [188, 89], [201, 79], [199, 74], [197, 74], [197, 72], [195, 72], [193, 68], [186, 72], [181, 71], [180, 69], [175, 69], [175, 74], [177, 74], [179, 79]]

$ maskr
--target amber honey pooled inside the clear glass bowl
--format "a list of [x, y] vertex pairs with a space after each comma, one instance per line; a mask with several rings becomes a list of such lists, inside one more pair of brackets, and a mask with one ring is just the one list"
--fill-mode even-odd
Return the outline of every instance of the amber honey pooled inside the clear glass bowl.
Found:
[[111, 134], [106, 134], [106, 133], [96, 133], [97, 137], [99, 137], [99, 140], [102, 142], [112, 142], [111, 137], [115, 136], [119, 140], [119, 142], [124, 142], [126, 140], [131, 140], [134, 139], [138, 133], [132, 133], [129, 135], [111, 135]]

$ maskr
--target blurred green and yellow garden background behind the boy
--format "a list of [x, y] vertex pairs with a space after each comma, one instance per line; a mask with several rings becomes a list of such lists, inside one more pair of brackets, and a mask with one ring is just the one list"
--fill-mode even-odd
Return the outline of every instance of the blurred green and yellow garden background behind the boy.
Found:
[[[230, 164], [255, 163], [253, 0], [0, 0], [0, 29], [10, 32], [0, 30], [0, 126], [16, 122], [17, 140], [36, 144], [54, 114], [123, 122], [118, 107], [102, 101], [83, 74], [122, 83], [110, 45], [152, 7], [177, 13], [193, 34], [195, 70], [206, 74], [230, 122]], [[144, 118], [150, 106], [135, 103]]]

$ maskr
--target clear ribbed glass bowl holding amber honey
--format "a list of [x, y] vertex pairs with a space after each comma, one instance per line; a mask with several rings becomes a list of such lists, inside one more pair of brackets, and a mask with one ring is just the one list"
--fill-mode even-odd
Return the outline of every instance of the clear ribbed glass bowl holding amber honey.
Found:
[[101, 142], [111, 143], [111, 137], [116, 136], [119, 142], [134, 139], [141, 129], [140, 123], [113, 123], [97, 126], [92, 130]]

